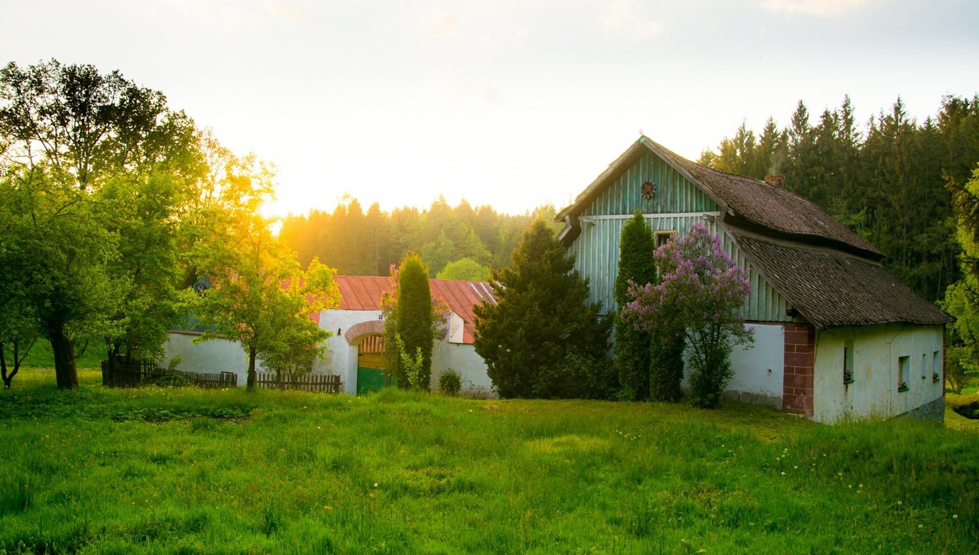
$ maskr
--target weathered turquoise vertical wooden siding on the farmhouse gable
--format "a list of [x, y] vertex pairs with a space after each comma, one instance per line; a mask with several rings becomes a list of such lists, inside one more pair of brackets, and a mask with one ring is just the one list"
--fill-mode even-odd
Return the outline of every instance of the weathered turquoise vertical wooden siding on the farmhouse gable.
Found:
[[[656, 184], [652, 199], [639, 194], [642, 183]], [[742, 315], [745, 320], [792, 321], [785, 315], [788, 303], [740, 252], [730, 237], [720, 230], [716, 222], [709, 222], [700, 215], [687, 212], [715, 212], [721, 209], [706, 193], [686, 180], [671, 166], [651, 152], [636, 161], [605, 192], [598, 196], [583, 214], [582, 234], [572, 243], [569, 251], [575, 255], [575, 268], [582, 277], [590, 280], [591, 302], [602, 303], [602, 314], [617, 310], [615, 303], [615, 279], [619, 273], [619, 239], [629, 215], [636, 208], [643, 213], [653, 213], [646, 222], [654, 232], [676, 231], [679, 237], [686, 235], [695, 222], [701, 222], [713, 234], [723, 235], [724, 250], [737, 264], [748, 270], [751, 294], [745, 300]], [[656, 213], [664, 216], [656, 216]], [[666, 216], [666, 214], [676, 214]], [[588, 216], [615, 216], [623, 218], [593, 218]]]

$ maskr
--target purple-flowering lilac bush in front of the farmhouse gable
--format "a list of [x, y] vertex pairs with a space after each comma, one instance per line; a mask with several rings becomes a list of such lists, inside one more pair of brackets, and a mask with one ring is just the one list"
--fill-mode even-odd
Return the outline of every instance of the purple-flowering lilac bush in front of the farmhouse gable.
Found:
[[748, 273], [724, 252], [720, 237], [699, 223], [682, 239], [658, 248], [655, 258], [662, 281], [630, 281], [633, 300], [623, 307], [622, 318], [648, 332], [681, 322], [691, 403], [717, 406], [734, 373], [731, 349], [753, 341], [739, 310], [751, 292]]

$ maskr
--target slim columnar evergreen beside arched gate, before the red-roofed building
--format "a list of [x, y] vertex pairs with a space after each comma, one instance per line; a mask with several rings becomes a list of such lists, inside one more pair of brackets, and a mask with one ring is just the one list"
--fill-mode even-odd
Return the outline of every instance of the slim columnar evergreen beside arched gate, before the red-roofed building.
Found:
[[[432, 375], [432, 343], [435, 341], [432, 320], [432, 291], [429, 288], [428, 268], [417, 255], [409, 254], [401, 262], [397, 272], [396, 330], [404, 352], [410, 358], [413, 359], [421, 349], [422, 365], [418, 372], [418, 383], [426, 391]], [[388, 348], [396, 347], [389, 345]], [[411, 383], [403, 366], [398, 357], [397, 387], [407, 389]]]

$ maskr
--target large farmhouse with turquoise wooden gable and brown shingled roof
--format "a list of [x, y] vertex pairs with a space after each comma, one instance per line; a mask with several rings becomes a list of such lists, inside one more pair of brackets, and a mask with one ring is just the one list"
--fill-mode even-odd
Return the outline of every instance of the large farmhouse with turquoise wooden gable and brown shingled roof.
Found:
[[704, 223], [750, 274], [742, 314], [755, 344], [732, 354], [726, 398], [822, 422], [943, 418], [952, 317], [881, 266], [879, 250], [786, 191], [780, 176], [713, 170], [640, 137], [558, 214], [559, 238], [605, 314], [619, 308], [619, 239], [636, 210], [658, 245]]

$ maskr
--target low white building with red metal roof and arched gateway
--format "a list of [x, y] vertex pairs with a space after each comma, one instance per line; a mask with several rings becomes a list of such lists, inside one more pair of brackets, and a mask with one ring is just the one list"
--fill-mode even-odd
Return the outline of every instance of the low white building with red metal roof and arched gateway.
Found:
[[[340, 286], [340, 308], [323, 311], [319, 325], [333, 331], [327, 341], [331, 373], [339, 374], [349, 393], [365, 393], [385, 384], [382, 358], [384, 316], [381, 299], [394, 289], [390, 277], [335, 276]], [[491, 382], [487, 366], [473, 347], [473, 306], [495, 303], [489, 283], [451, 279], [430, 279], [432, 296], [448, 305], [445, 337], [436, 338], [432, 348], [431, 388], [438, 387], [439, 376], [448, 368], [462, 378], [463, 391], [487, 396]]]

